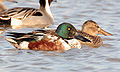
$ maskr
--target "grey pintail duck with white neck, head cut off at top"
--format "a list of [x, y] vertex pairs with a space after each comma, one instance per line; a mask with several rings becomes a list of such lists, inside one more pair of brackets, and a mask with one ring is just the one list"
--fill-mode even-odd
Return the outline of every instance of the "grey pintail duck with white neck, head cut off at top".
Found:
[[[17, 7], [2, 12], [0, 24], [9, 23], [12, 29], [45, 28], [54, 24], [50, 4], [55, 0], [39, 0], [40, 9]], [[7, 22], [8, 21], [8, 22]]]

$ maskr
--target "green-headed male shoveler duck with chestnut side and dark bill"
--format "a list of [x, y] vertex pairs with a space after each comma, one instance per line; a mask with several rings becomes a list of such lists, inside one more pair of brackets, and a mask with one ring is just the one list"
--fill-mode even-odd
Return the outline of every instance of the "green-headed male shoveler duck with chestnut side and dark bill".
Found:
[[5, 39], [18, 49], [59, 51], [71, 48], [81, 48], [79, 40], [90, 40], [77, 33], [75, 27], [69, 23], [60, 24], [56, 30], [36, 30], [31, 33], [9, 32]]

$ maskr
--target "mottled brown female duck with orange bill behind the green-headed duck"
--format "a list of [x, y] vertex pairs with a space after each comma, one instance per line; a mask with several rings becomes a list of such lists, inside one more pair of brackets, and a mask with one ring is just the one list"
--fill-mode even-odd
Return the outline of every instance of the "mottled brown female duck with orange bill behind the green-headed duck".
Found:
[[78, 31], [80, 35], [89, 39], [91, 42], [82, 42], [80, 43], [85, 46], [97, 48], [102, 45], [102, 39], [97, 34], [102, 34], [105, 36], [112, 35], [101, 29], [95, 21], [88, 20], [82, 25], [82, 30]]

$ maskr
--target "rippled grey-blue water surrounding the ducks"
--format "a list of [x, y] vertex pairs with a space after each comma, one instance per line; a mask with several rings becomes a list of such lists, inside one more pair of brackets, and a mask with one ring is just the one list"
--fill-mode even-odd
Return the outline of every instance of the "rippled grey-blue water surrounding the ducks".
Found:
[[[39, 8], [36, 0], [4, 2], [13, 7]], [[113, 34], [102, 36], [99, 48], [82, 47], [64, 53], [32, 50], [16, 50], [0, 38], [0, 72], [119, 72], [120, 71], [120, 1], [119, 0], [57, 0], [51, 11], [56, 28], [62, 22], [72, 23], [77, 29], [86, 20], [96, 21], [101, 28]], [[21, 29], [18, 31], [32, 31]]]

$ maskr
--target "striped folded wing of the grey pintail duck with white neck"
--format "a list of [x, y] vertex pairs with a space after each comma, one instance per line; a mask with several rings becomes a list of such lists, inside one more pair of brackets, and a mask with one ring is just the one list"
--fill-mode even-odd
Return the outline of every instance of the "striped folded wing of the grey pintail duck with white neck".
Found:
[[42, 13], [41, 12], [38, 13], [37, 11], [38, 9], [35, 8], [16, 7], [2, 12], [0, 18], [4, 19], [4, 17], [14, 17], [20, 20], [24, 20], [28, 16], [36, 16], [36, 15], [42, 16]]

